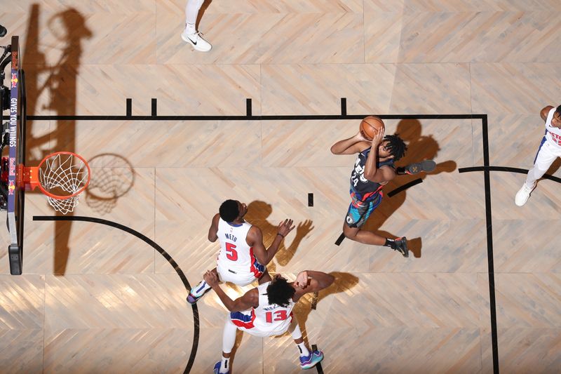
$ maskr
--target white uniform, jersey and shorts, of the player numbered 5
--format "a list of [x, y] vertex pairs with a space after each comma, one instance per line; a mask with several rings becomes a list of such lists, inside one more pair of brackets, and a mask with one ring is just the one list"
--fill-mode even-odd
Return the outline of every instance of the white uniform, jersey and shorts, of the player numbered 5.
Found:
[[250, 228], [248, 222], [232, 225], [219, 218], [217, 236], [220, 253], [216, 269], [222, 281], [245, 286], [259, 279], [265, 271], [264, 265], [257, 262], [253, 248], [246, 241]]

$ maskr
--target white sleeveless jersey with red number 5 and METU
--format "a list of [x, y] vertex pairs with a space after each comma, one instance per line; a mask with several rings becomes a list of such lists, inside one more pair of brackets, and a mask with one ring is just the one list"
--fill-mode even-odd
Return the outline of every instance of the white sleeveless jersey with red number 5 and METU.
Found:
[[255, 262], [253, 248], [245, 241], [251, 224], [243, 222], [232, 225], [222, 218], [218, 220], [217, 236], [220, 242], [220, 253], [217, 262], [230, 269], [231, 272], [247, 273], [252, 271]]

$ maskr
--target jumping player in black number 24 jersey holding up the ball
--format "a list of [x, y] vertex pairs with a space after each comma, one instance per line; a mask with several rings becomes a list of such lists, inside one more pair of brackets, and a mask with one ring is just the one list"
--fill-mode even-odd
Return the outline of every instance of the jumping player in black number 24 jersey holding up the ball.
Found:
[[[367, 230], [360, 229], [372, 211], [381, 202], [382, 187], [387, 182], [396, 178], [398, 174], [393, 165], [405, 154], [407, 146], [399, 136], [384, 136], [384, 128], [374, 135], [369, 141], [360, 135], [360, 131], [352, 138], [340, 140], [331, 147], [333, 154], [355, 154], [358, 157], [351, 173], [351, 205], [347, 211], [343, 225], [344, 235], [354, 241], [375, 246], [391, 247], [399, 251], [404, 257], [409, 257], [407, 250], [407, 239], [384, 238]], [[404, 169], [407, 172], [407, 167]]]

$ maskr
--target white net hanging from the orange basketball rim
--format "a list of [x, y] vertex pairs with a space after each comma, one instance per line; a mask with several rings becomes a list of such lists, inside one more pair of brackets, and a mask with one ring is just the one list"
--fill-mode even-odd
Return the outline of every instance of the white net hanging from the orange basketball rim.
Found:
[[79, 195], [72, 195], [88, 185], [89, 177], [86, 162], [75, 154], [56, 153], [39, 166], [41, 186], [59, 197], [48, 196], [48, 203], [62, 214], [74, 211]]

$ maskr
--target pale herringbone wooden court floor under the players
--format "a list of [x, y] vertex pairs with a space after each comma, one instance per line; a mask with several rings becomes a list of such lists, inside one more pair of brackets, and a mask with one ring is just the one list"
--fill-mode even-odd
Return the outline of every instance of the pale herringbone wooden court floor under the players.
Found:
[[[296, 309], [323, 373], [561, 371], [560, 184], [519, 208], [524, 174], [466, 171], [486, 152], [532, 166], [539, 111], [561, 104], [559, 1], [205, 1], [209, 53], [180, 38], [184, 0], [0, 4], [0, 44], [22, 43], [28, 164], [70, 150], [93, 168], [75, 220], [26, 195], [24, 274], [0, 251], [0, 373], [210, 373], [227, 311], [214, 293], [191, 308], [185, 281], [215, 266], [224, 199], [248, 203], [266, 243], [295, 220], [269, 271], [336, 277]], [[438, 163], [386, 186], [368, 222], [407, 236], [410, 258], [336, 244], [354, 157], [329, 149], [359, 122], [342, 98], [398, 115], [401, 164]], [[240, 335], [232, 369], [300, 372], [290, 335]]]

